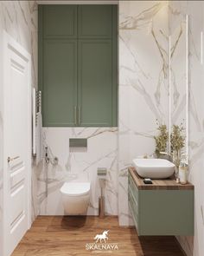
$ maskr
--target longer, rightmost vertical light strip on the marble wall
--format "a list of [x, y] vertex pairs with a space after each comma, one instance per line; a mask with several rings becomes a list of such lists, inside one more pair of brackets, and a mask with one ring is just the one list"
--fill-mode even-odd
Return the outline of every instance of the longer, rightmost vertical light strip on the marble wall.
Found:
[[186, 101], [187, 101], [187, 109], [186, 109], [186, 154], [188, 161], [188, 97], [189, 97], [189, 87], [188, 87], [188, 15], [186, 16]]

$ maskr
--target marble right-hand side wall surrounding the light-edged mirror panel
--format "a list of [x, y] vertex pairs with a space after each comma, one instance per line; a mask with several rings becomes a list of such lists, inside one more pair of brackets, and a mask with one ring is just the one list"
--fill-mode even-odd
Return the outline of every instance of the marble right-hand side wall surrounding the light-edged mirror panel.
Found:
[[194, 236], [178, 237], [188, 256], [204, 254], [204, 107], [203, 64], [201, 64], [201, 31], [204, 30], [202, 1], [171, 1], [169, 28], [180, 26], [188, 14], [188, 158], [189, 180], [194, 184]]

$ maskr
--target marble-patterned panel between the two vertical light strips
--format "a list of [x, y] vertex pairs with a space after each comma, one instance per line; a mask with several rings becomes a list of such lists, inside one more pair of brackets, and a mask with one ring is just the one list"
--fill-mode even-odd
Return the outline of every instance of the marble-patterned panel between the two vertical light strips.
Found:
[[[188, 138], [187, 129], [187, 63], [188, 63], [188, 26], [187, 17], [181, 17], [175, 30], [171, 29], [169, 36], [170, 44], [170, 123], [179, 125], [184, 128], [182, 135]], [[185, 146], [182, 148], [182, 153], [187, 153], [188, 141], [185, 141]]]

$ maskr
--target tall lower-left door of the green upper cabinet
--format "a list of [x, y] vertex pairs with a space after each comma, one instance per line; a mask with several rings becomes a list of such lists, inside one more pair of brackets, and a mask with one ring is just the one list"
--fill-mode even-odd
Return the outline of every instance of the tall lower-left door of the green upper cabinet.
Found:
[[77, 42], [44, 42], [42, 113], [44, 127], [74, 126], [77, 106]]

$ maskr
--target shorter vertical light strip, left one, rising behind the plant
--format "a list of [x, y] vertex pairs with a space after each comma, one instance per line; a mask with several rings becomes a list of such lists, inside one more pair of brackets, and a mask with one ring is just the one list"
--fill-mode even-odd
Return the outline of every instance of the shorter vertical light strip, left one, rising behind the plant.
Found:
[[171, 133], [171, 38], [169, 36], [169, 153], [170, 149], [170, 133]]

